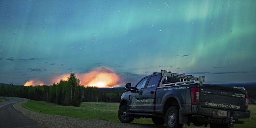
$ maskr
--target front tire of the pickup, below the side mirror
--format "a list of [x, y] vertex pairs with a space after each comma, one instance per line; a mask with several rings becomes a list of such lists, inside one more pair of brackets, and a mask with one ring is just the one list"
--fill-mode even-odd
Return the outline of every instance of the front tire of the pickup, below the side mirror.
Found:
[[126, 105], [122, 105], [118, 110], [118, 118], [123, 123], [131, 123], [134, 117], [130, 114], [127, 114]]

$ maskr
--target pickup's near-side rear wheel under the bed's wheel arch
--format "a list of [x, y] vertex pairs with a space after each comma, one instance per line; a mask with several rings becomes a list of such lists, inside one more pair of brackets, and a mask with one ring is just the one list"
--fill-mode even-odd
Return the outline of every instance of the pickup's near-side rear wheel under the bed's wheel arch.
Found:
[[183, 124], [179, 123], [179, 108], [170, 106], [165, 114], [165, 124], [167, 128], [182, 128]]

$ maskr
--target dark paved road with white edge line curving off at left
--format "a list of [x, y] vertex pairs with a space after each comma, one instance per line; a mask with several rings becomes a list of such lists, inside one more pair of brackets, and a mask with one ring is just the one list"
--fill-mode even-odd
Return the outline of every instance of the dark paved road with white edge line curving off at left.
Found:
[[0, 102], [0, 128], [45, 128], [13, 108], [13, 104], [23, 101], [23, 98], [0, 98], [11, 99], [9, 101]]

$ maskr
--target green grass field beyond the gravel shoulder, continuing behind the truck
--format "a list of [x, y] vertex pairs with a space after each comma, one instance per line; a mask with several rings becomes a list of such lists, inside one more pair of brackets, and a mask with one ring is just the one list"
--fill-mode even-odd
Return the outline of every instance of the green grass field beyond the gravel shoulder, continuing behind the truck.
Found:
[[[33, 100], [28, 100], [27, 103], [22, 104], [22, 106], [28, 110], [44, 114], [62, 115], [76, 118], [107, 119], [115, 122], [119, 122], [117, 116], [118, 105], [119, 103], [82, 102], [80, 107], [74, 107]], [[249, 104], [249, 110], [251, 110], [250, 118], [241, 119], [241, 121], [244, 121], [244, 124], [236, 124], [235, 128], [256, 127], [256, 105]], [[134, 119], [132, 123], [154, 124], [150, 118]]]

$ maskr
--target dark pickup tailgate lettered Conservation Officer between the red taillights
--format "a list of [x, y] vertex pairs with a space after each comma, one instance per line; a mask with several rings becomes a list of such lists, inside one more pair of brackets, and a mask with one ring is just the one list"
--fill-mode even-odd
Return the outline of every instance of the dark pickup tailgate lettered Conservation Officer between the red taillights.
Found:
[[245, 111], [245, 90], [211, 85], [200, 87], [199, 104], [202, 107]]

